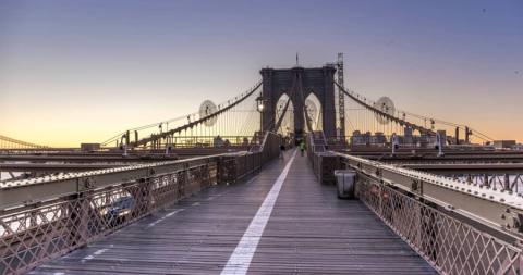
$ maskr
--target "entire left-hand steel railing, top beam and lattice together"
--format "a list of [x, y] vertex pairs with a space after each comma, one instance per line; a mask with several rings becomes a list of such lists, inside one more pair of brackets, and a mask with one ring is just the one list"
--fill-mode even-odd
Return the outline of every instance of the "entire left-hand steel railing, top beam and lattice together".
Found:
[[[5, 199], [0, 203], [0, 274], [24, 273], [203, 188], [238, 182], [278, 155], [276, 135], [267, 134], [264, 145], [256, 152], [77, 173], [68, 178], [37, 178], [23, 185], [3, 186], [0, 195], [15, 196], [15, 189], [22, 189], [34, 199], [19, 203]], [[74, 182], [77, 191], [71, 192], [68, 185]], [[54, 189], [54, 192], [42, 192], [45, 189]]]

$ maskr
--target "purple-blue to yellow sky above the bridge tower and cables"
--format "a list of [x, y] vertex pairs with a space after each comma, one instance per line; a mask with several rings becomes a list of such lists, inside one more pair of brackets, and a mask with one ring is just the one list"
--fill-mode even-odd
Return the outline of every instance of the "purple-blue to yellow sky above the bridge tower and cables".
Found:
[[523, 1], [0, 0], [0, 135], [100, 142], [344, 53], [345, 86], [523, 141]]

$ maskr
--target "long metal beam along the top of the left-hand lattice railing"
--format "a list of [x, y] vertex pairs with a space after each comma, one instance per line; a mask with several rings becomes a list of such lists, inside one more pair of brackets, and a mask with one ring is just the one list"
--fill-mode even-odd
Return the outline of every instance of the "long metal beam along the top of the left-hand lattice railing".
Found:
[[[13, 182], [0, 182], [0, 212], [8, 208], [24, 204], [38, 204], [47, 200], [66, 197], [69, 195], [127, 183], [136, 183], [158, 175], [188, 171], [193, 167], [198, 168], [202, 166], [209, 166], [209, 164], [216, 165], [218, 170], [221, 171], [217, 172], [219, 174], [224, 174], [224, 176], [231, 178], [242, 178], [244, 175], [260, 168], [265, 162], [278, 155], [280, 145], [278, 135], [266, 133], [264, 139], [260, 141], [260, 148], [256, 152], [241, 151], [221, 153], [185, 160], [135, 164], [123, 167], [70, 173], [64, 175], [49, 175]], [[231, 159], [234, 162], [238, 162], [238, 170], [234, 168], [233, 171], [228, 171], [226, 167], [227, 165], [223, 165], [224, 160]], [[251, 161], [246, 159], [251, 159]]]

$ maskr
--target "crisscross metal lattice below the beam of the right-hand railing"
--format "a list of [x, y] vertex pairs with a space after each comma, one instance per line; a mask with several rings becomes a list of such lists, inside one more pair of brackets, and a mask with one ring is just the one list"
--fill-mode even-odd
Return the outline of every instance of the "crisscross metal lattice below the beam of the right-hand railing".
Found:
[[356, 196], [441, 274], [518, 275], [523, 252], [418, 200], [372, 180]]

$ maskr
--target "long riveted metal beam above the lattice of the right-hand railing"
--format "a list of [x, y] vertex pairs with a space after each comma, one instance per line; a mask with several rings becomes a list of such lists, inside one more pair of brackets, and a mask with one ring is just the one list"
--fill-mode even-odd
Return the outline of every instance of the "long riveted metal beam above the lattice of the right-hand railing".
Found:
[[375, 180], [398, 187], [416, 197], [510, 234], [523, 236], [523, 198], [463, 180], [338, 153], [345, 164]]

